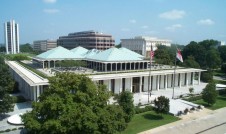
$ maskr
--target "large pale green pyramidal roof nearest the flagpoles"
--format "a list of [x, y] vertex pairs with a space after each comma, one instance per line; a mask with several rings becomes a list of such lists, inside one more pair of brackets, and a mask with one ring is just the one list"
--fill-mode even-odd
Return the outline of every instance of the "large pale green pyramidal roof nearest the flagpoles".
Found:
[[110, 48], [103, 52], [100, 52], [90, 59], [98, 60], [98, 61], [134, 61], [134, 60], [142, 60], [141, 58], [137, 57], [135, 54], [129, 54], [128, 52], [125, 53], [123, 50], [118, 48]]

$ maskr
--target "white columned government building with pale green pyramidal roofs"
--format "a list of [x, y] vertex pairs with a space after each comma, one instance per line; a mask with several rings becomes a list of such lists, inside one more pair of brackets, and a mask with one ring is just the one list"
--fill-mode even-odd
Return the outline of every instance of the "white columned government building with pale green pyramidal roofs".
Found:
[[[109, 91], [118, 94], [122, 91], [133, 93], [147, 92], [150, 90], [167, 90], [173, 87], [174, 67], [154, 64], [151, 69], [149, 61], [143, 60], [139, 55], [126, 48], [110, 48], [104, 51], [96, 49], [87, 50], [77, 47], [72, 50], [57, 47], [33, 58], [33, 65], [48, 73], [71, 71], [87, 74], [94, 82], [105, 84]], [[63, 60], [82, 60], [86, 68], [74, 67], [69, 70], [56, 66]], [[15, 61], [8, 61], [14, 79], [19, 82], [19, 89], [25, 97], [37, 101], [38, 96], [48, 86], [48, 80], [24, 68]], [[200, 74], [204, 70], [195, 68], [177, 67], [175, 87], [188, 87], [200, 84]], [[198, 79], [195, 83], [195, 77]]]

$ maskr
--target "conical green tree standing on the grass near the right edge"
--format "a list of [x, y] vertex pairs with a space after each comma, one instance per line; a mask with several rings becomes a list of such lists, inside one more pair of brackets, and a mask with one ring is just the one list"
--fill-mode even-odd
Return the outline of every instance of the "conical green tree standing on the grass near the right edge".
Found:
[[210, 82], [202, 91], [202, 99], [208, 103], [208, 105], [213, 105], [217, 100], [216, 85], [214, 82]]

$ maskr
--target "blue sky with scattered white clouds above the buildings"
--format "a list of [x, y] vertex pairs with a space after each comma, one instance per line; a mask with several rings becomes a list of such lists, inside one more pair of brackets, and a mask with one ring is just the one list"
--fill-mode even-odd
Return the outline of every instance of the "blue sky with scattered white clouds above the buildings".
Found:
[[120, 39], [151, 36], [187, 45], [226, 41], [226, 0], [0, 0], [4, 23], [14, 19], [20, 44], [95, 30]]

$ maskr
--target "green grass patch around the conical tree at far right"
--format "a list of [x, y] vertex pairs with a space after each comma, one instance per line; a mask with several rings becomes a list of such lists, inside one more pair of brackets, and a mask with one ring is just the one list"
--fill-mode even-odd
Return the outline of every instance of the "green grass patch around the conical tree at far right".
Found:
[[203, 101], [203, 99], [193, 101], [193, 102], [198, 104], [198, 105], [203, 105], [208, 109], [216, 110], [216, 109], [219, 109], [219, 108], [226, 107], [226, 95], [219, 95], [217, 97], [216, 103], [212, 106], [209, 106], [206, 102]]

